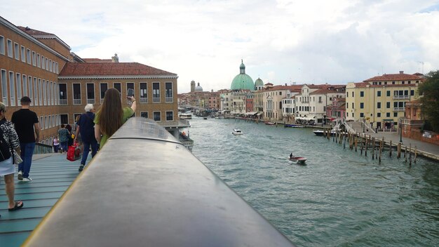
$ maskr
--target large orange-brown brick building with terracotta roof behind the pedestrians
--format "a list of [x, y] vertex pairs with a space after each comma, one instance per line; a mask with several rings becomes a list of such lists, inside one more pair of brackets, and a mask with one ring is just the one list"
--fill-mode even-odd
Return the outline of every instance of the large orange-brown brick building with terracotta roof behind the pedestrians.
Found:
[[[123, 96], [135, 90], [137, 116], [158, 121], [170, 133], [187, 126], [177, 117], [177, 74], [137, 62], [80, 58], [55, 34], [17, 27], [0, 17], [0, 83], [6, 118], [32, 100], [39, 116], [41, 143], [51, 145], [62, 123], [74, 123], [87, 103], [98, 108], [107, 88]], [[123, 104], [128, 102], [123, 97]]]

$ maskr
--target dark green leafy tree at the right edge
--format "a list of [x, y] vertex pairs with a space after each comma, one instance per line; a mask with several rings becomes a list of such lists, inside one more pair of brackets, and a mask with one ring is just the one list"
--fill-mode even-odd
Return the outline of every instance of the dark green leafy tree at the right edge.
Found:
[[433, 131], [439, 132], [439, 70], [426, 74], [426, 80], [419, 84], [418, 89], [419, 95], [422, 95], [422, 114], [431, 124]]

